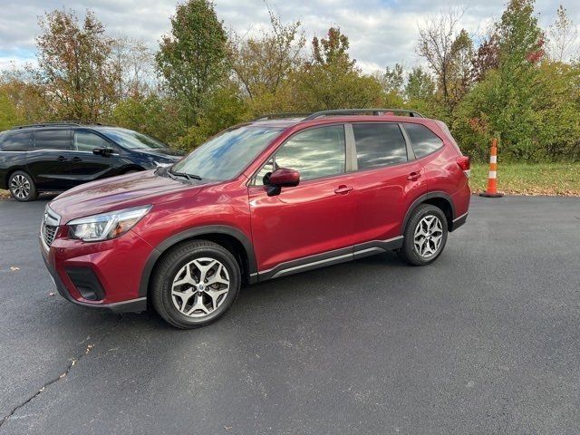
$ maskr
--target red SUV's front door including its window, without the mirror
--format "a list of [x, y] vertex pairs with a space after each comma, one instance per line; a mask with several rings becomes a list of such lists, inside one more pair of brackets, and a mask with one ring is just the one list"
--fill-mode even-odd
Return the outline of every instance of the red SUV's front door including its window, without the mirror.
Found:
[[[300, 171], [300, 184], [268, 197], [263, 177]], [[353, 191], [348, 186], [343, 125], [299, 131], [275, 151], [248, 188], [261, 277], [286, 275], [352, 257]]]

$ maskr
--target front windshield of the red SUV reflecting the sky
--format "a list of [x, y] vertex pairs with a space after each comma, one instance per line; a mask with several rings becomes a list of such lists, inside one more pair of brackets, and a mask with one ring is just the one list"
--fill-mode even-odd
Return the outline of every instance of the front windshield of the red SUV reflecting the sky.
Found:
[[197, 175], [201, 179], [232, 179], [264, 150], [281, 129], [237, 127], [208, 140], [188, 157], [171, 167], [171, 172]]

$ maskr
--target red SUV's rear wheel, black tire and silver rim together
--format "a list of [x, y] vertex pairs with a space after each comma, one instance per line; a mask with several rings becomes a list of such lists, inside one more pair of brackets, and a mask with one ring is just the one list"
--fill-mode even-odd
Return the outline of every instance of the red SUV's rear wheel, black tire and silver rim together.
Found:
[[416, 208], [404, 232], [399, 255], [412, 266], [429, 265], [447, 242], [447, 218], [440, 208], [422, 204]]

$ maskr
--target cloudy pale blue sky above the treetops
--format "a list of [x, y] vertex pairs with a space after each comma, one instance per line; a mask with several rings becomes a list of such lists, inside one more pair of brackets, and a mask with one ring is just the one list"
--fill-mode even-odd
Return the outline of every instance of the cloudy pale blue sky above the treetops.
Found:
[[[215, 3], [219, 18], [238, 34], [258, 32], [268, 24], [263, 0]], [[580, 1], [537, 0], [536, 13], [543, 26], [554, 22], [560, 3], [580, 23]], [[0, 69], [34, 61], [37, 19], [45, 11], [64, 7], [82, 15], [92, 9], [111, 34], [141, 39], [155, 49], [160, 35], [169, 30], [175, 5], [176, 0], [0, 0]], [[340, 26], [350, 39], [353, 58], [364, 71], [372, 72], [394, 63], [419, 63], [414, 47], [418, 25], [427, 14], [459, 6], [465, 9], [461, 25], [477, 36], [501, 15], [505, 0], [268, 0], [268, 5], [285, 22], [300, 20], [309, 39], [324, 34], [330, 25]]]

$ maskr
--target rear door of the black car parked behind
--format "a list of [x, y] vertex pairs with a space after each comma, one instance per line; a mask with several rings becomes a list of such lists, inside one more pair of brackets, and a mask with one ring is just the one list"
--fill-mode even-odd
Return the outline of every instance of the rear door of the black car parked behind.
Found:
[[68, 162], [73, 156], [70, 129], [34, 132], [34, 149], [28, 153], [27, 168], [39, 190], [69, 189]]

